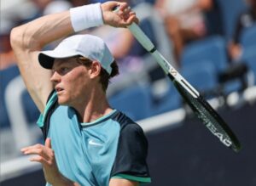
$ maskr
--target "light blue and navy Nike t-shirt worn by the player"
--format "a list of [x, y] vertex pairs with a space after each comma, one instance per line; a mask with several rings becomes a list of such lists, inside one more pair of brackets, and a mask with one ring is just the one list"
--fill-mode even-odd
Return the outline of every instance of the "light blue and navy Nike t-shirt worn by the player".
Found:
[[107, 186], [110, 178], [151, 181], [143, 130], [118, 110], [81, 123], [73, 108], [57, 104], [53, 93], [38, 126], [51, 138], [60, 172], [80, 185]]

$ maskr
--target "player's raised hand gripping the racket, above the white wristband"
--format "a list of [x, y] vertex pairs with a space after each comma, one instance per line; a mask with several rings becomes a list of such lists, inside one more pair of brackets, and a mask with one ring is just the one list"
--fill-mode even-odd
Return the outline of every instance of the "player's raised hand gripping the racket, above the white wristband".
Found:
[[[101, 4], [103, 21], [107, 25], [114, 27], [126, 27], [132, 22], [138, 22], [135, 12], [131, 11], [127, 3], [106, 2]], [[113, 12], [113, 8], [119, 7], [118, 12]]]

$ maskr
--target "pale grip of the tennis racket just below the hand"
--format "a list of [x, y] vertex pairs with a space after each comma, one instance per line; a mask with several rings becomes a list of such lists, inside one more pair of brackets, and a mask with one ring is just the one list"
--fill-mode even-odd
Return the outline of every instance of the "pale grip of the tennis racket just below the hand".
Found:
[[136, 23], [133, 22], [131, 25], [128, 25], [127, 28], [131, 31], [132, 35], [137, 38], [137, 41], [143, 45], [143, 48], [145, 48], [149, 53], [154, 52], [155, 47], [153, 42], [150, 41]]

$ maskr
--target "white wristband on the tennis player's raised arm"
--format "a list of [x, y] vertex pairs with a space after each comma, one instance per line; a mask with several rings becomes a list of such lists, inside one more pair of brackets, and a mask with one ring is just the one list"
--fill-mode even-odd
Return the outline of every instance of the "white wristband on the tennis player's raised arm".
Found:
[[69, 12], [74, 31], [103, 25], [101, 3], [70, 8]]

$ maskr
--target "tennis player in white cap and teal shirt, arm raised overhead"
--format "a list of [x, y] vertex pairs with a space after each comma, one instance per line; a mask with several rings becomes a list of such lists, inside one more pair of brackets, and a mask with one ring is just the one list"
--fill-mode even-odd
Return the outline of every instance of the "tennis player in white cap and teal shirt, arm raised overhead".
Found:
[[[119, 13], [113, 8], [119, 6]], [[149, 183], [143, 130], [108, 104], [109, 79], [118, 66], [99, 37], [74, 35], [104, 24], [137, 21], [126, 3], [71, 8], [20, 25], [11, 32], [21, 76], [41, 111], [45, 144], [21, 149], [42, 163], [47, 185], [135, 186]], [[64, 39], [54, 50], [49, 42]]]

